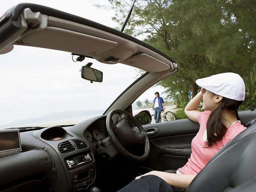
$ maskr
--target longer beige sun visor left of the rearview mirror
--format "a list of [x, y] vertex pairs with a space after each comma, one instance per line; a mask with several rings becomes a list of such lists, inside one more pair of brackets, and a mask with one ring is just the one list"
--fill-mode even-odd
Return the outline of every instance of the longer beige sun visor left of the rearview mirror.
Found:
[[117, 42], [107, 39], [49, 26], [43, 31], [24, 36], [16, 44], [76, 52], [90, 56], [102, 54], [118, 45]]

